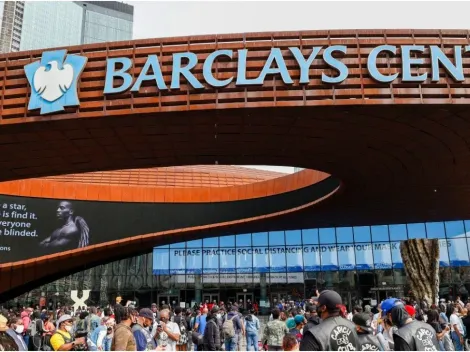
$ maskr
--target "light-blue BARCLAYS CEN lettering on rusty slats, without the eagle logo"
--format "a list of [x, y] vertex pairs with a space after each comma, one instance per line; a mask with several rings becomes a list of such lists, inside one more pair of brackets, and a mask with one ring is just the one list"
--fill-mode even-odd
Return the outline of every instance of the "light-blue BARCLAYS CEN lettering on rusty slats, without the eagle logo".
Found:
[[[386, 74], [377, 68], [377, 57], [380, 54], [387, 53], [389, 56], [396, 56], [398, 48], [394, 45], [381, 45], [372, 49], [367, 59], [367, 70], [372, 78], [378, 82], [390, 83], [397, 78], [401, 78], [402, 82], [423, 82], [428, 77], [431, 81], [439, 81], [439, 67], [447, 70], [449, 75], [458, 82], [464, 81], [462, 56], [470, 51], [468, 46], [454, 46], [453, 60], [451, 60], [436, 45], [429, 46], [431, 58], [431, 72], [423, 72], [419, 75], [412, 74], [413, 67], [419, 67], [424, 64], [424, 58], [414, 57], [416, 54], [425, 51], [424, 45], [403, 45], [400, 46], [400, 56], [402, 60], [401, 73]], [[320, 52], [323, 50], [322, 54]], [[326, 48], [315, 46], [310, 51], [308, 57], [305, 57], [302, 51], [297, 47], [289, 47], [288, 50], [294, 57], [300, 70], [299, 84], [307, 84], [310, 81], [310, 66], [315, 59], [322, 59], [326, 65], [336, 71], [334, 75], [322, 73], [322, 82], [336, 84], [343, 82], [349, 73], [349, 69], [345, 63], [338, 58], [341, 54], [347, 54], [347, 47], [344, 45], [334, 45]], [[336, 53], [336, 55], [334, 55]], [[282, 81], [289, 85], [294, 84], [289, 74], [285, 58], [281, 49], [272, 48], [270, 54], [264, 64], [261, 73], [257, 78], [247, 78], [246, 66], [249, 51], [247, 49], [238, 50], [237, 57], [237, 73], [233, 77], [219, 80], [213, 74], [213, 65], [217, 58], [226, 57], [233, 59], [235, 57], [233, 50], [217, 50], [211, 53], [203, 63], [203, 77], [205, 83], [215, 88], [222, 88], [235, 82], [235, 85], [262, 85], [268, 75], [279, 75]], [[186, 62], [185, 64], [183, 64]], [[149, 55], [147, 61], [142, 68], [140, 74], [135, 80], [129, 73], [132, 68], [132, 60], [127, 57], [112, 58], [107, 60], [106, 65], [106, 81], [105, 94], [121, 93], [130, 89], [131, 92], [138, 92], [143, 82], [155, 82], [159, 90], [174, 90], [180, 88], [180, 78], [184, 77], [189, 84], [195, 89], [204, 89], [204, 82], [198, 80], [191, 72], [199, 63], [195, 53], [184, 52], [173, 54], [173, 69], [171, 73], [171, 82], [168, 85], [164, 79], [157, 55]], [[119, 67], [119, 68], [117, 68]], [[121, 78], [122, 83], [114, 85], [114, 79]]]

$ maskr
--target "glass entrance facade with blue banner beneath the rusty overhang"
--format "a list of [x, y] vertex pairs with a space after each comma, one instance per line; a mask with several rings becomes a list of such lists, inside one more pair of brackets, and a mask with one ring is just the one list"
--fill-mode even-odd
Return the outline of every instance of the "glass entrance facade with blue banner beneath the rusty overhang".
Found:
[[117, 295], [141, 305], [216, 299], [302, 299], [333, 288], [349, 304], [406, 296], [400, 241], [440, 241], [442, 297], [470, 291], [470, 220], [381, 226], [299, 229], [204, 238], [154, 248], [153, 253], [87, 269], [44, 285], [9, 304], [72, 303], [71, 290], [91, 290], [90, 304]]

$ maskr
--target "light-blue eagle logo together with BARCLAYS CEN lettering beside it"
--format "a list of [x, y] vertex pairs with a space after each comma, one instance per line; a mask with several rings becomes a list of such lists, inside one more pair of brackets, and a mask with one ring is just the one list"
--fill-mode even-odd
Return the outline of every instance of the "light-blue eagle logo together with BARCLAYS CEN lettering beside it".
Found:
[[[310, 82], [310, 68], [315, 61], [322, 60], [329, 69], [322, 72], [321, 81], [325, 84], [338, 84], [343, 82], [349, 74], [348, 66], [342, 61], [348, 48], [344, 45], [328, 47], [314, 46], [303, 52], [297, 47], [289, 47], [287, 50], [272, 48], [257, 78], [247, 77], [247, 61], [250, 52], [247, 49], [216, 50], [210, 53], [203, 65], [203, 80], [199, 80], [193, 71], [199, 64], [196, 53], [175, 53], [172, 57], [171, 82], [165, 82], [162, 67], [157, 55], [149, 55], [137, 77], [132, 74], [133, 61], [128, 57], [108, 58], [106, 61], [106, 78], [104, 94], [117, 94], [126, 91], [139, 92], [144, 82], [155, 84], [158, 90], [178, 90], [180, 82], [185, 79], [193, 88], [204, 89], [205, 85], [214, 88], [223, 88], [234, 83], [236, 86], [262, 85], [267, 76], [277, 75], [284, 84], [293, 85], [286, 58], [292, 61], [292, 57], [299, 69], [298, 84]], [[456, 45], [452, 49], [452, 59], [436, 45], [380, 45], [371, 50], [367, 58], [367, 70], [371, 78], [381, 83], [391, 83], [396, 79], [401, 82], [424, 82], [428, 78], [431, 82], [439, 81], [439, 68], [443, 67], [449, 76], [457, 82], [463, 82], [464, 71], [462, 57], [470, 51], [470, 45]], [[428, 54], [429, 52], [429, 54]], [[305, 56], [307, 53], [308, 56]], [[253, 55], [253, 53], [252, 53]], [[284, 55], [286, 57], [284, 57]], [[401, 57], [401, 70], [390, 73], [379, 69], [378, 58]], [[429, 56], [428, 56], [429, 55]], [[254, 56], [254, 55], [253, 55]], [[421, 57], [417, 57], [421, 56]], [[431, 67], [415, 73], [414, 68], [419, 68], [425, 62], [423, 56], [430, 59]], [[221, 80], [214, 75], [214, 63], [219, 58], [224, 61], [236, 62], [236, 73], [231, 77]], [[67, 50], [45, 51], [40, 60], [25, 66], [25, 74], [31, 85], [31, 96], [28, 110], [41, 109], [41, 114], [63, 111], [67, 106], [79, 106], [79, 78], [86, 70], [87, 57], [67, 54]]]

